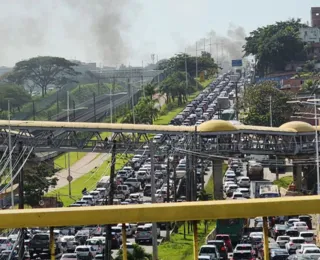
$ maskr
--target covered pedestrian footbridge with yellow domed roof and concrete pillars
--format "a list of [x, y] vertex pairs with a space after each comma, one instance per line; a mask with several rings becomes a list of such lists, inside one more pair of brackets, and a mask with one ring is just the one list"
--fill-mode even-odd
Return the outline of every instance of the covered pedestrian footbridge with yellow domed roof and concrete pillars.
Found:
[[[0, 149], [8, 146], [7, 120], [0, 120], [4, 129], [0, 137]], [[315, 156], [316, 128], [308, 123], [293, 121], [280, 127], [236, 125], [229, 121], [211, 120], [199, 126], [133, 125], [87, 122], [11, 121], [13, 142], [34, 152], [110, 152], [117, 141], [116, 152], [133, 153], [150, 143], [150, 135], [163, 134], [170, 139], [176, 152], [193, 153], [213, 162], [214, 196], [223, 197], [223, 160], [228, 157], [263, 154], [293, 159], [293, 175], [297, 189], [301, 188], [302, 167], [298, 159]], [[32, 135], [32, 131], [39, 135]], [[54, 133], [61, 132], [59, 135]], [[111, 140], [103, 140], [101, 132], [112, 133]], [[186, 142], [177, 142], [175, 137], [184, 137]], [[13, 145], [14, 146], [14, 145]], [[157, 146], [153, 144], [152, 146]], [[21, 147], [21, 145], [20, 145]], [[16, 149], [20, 149], [16, 146]], [[149, 148], [148, 148], [149, 149]], [[154, 147], [157, 153], [166, 149]], [[145, 149], [143, 149], [145, 151]], [[295, 163], [295, 160], [296, 163]]]

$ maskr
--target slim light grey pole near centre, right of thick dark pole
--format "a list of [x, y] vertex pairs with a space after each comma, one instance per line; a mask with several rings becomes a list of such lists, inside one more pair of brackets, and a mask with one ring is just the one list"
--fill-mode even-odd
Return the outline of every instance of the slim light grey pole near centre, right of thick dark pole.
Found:
[[[151, 158], [151, 194], [152, 203], [156, 203], [156, 182], [154, 176], [154, 146], [150, 142], [150, 158]], [[158, 240], [157, 240], [157, 223], [152, 223], [152, 259], [158, 260]]]

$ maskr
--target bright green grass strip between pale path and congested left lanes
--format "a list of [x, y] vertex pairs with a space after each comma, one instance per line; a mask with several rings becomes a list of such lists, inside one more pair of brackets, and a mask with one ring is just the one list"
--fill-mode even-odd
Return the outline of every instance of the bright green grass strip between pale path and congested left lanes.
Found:
[[[130, 155], [128, 155], [128, 158], [125, 158], [124, 156], [117, 155], [116, 159], [116, 171], [120, 170], [131, 158]], [[46, 194], [46, 196], [56, 196], [60, 197], [60, 200], [62, 201], [64, 206], [69, 206], [70, 204], [74, 203], [76, 200], [80, 199], [82, 197], [82, 190], [86, 187], [87, 190], [92, 190], [95, 188], [97, 182], [103, 177], [110, 175], [110, 162], [111, 158], [108, 158], [105, 160], [101, 166], [97, 169], [94, 169], [80, 178], [74, 180], [71, 183], [71, 189], [72, 189], [72, 198], [69, 198], [69, 186], [66, 185], [64, 187], [61, 187], [59, 189], [56, 189], [52, 192], [49, 192]]]

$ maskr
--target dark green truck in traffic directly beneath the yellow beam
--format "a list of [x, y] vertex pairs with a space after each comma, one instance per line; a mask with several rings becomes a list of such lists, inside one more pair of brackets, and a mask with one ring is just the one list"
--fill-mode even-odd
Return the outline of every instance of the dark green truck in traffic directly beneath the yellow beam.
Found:
[[216, 234], [228, 234], [233, 245], [240, 242], [244, 233], [247, 219], [218, 219], [216, 224]]

